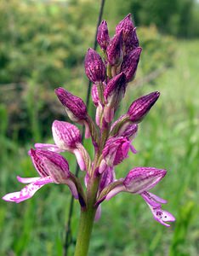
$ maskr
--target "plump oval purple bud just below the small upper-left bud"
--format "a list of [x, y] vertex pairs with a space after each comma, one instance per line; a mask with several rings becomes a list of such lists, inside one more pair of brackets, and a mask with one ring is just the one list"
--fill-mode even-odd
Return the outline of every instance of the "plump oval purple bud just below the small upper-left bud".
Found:
[[88, 49], [84, 66], [88, 79], [93, 83], [100, 83], [105, 80], [105, 64], [94, 49]]

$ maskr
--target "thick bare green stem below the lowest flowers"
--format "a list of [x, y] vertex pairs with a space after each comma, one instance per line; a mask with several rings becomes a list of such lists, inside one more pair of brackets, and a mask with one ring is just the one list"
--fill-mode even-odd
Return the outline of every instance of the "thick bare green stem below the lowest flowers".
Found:
[[89, 207], [88, 210], [81, 211], [75, 256], [88, 255], [88, 247], [93, 230], [95, 212], [96, 209], [94, 207]]

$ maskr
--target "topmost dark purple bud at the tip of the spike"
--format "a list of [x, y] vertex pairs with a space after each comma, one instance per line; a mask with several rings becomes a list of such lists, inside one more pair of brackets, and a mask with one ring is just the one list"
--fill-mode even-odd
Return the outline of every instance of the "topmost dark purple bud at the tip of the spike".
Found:
[[133, 49], [139, 46], [139, 40], [136, 34], [136, 28], [131, 19], [131, 14], [127, 15], [123, 20], [119, 22], [116, 27], [116, 33], [122, 31], [122, 38], [124, 44], [125, 55], [128, 54]]

